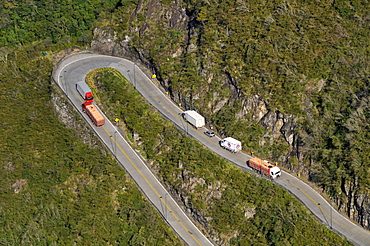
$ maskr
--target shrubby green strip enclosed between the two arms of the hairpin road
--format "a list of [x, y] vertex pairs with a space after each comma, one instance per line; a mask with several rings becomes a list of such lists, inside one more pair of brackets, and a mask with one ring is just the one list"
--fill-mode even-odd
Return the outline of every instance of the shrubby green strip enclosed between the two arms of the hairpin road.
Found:
[[[147, 154], [173, 195], [210, 218], [207, 228], [231, 245], [347, 245], [319, 224], [294, 197], [242, 172], [179, 132], [112, 69], [90, 73], [96, 96], [111, 119], [120, 118], [133, 146]], [[186, 199], [185, 199], [186, 200]], [[320, 235], [320, 236], [317, 236]]]

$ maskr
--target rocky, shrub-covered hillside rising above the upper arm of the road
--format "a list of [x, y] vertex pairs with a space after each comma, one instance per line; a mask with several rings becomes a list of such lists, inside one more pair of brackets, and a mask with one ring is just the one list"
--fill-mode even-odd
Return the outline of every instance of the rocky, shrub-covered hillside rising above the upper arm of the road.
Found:
[[222, 136], [321, 187], [369, 228], [368, 1], [139, 1], [94, 31]]

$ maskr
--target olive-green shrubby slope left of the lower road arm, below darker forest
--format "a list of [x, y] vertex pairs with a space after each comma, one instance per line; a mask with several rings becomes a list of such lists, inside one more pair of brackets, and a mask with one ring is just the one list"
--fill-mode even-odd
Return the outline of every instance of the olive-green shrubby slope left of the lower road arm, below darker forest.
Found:
[[[9, 50], [1, 62], [0, 245], [181, 245], [51, 86], [49, 45]], [[77, 122], [58, 120], [56, 98]]]

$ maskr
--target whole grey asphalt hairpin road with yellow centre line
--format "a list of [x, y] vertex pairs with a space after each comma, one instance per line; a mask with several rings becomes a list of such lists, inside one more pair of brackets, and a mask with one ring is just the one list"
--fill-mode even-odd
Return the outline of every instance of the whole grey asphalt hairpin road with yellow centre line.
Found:
[[[220, 140], [218, 137], [208, 138], [203, 134], [207, 129], [197, 130], [184, 122], [180, 117], [183, 111], [168, 98], [164, 91], [154, 85], [133, 62], [126, 59], [86, 52], [69, 56], [59, 62], [53, 71], [53, 79], [79, 112], [81, 112], [82, 99], [75, 89], [75, 84], [83, 81], [90, 71], [101, 67], [111, 67], [121, 72], [146, 100], [157, 108], [163, 117], [172, 121], [186, 134], [196, 138], [221, 157], [245, 171], [254, 173], [246, 165], [246, 161], [251, 159], [251, 156], [245, 153], [232, 154], [224, 150], [218, 144]], [[188, 245], [212, 245], [171, 198], [111, 122], [107, 120], [106, 125], [98, 128], [91, 123], [86, 114], [81, 113], [81, 115], [89, 122], [96, 134], [116, 156], [162, 217]], [[296, 196], [329, 229], [346, 237], [356, 245], [370, 245], [369, 231], [338, 213], [319, 193], [299, 178], [283, 171], [282, 178], [273, 182]]]

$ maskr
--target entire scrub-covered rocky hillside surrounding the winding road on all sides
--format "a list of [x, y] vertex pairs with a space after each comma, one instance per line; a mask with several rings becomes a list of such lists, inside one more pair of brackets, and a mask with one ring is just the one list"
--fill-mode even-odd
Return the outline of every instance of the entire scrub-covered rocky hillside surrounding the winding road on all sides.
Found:
[[[60, 58], [50, 54], [90, 43], [140, 60], [176, 102], [200, 111], [221, 135], [237, 136], [248, 151], [307, 176], [368, 226], [366, 1], [1, 4], [0, 243], [181, 244], [50, 85]], [[116, 99], [137, 99], [131, 97]], [[122, 118], [138, 113], [126, 122], [128, 133], [148, 137], [140, 130], [155, 113], [142, 104], [126, 111], [139, 106], [128, 103], [111, 110]], [[155, 119], [153, 132], [170, 128]], [[321, 235], [312, 244], [348, 244], [287, 192], [196, 152], [194, 141], [174, 141], [181, 136], [176, 129], [162, 132], [161, 152], [153, 149], [156, 139], [134, 144], [218, 243], [299, 245]], [[210, 165], [216, 168], [204, 168]], [[204, 202], [208, 188], [211, 203]], [[269, 192], [260, 196], [260, 189]]]

